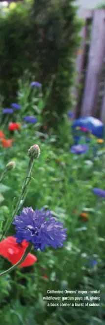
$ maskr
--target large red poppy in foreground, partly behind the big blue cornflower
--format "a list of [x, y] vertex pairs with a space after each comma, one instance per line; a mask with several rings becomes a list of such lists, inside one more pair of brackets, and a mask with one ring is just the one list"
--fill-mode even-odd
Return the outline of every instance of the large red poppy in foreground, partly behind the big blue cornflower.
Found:
[[[22, 244], [17, 244], [16, 239], [9, 236], [0, 242], [0, 255], [9, 260], [13, 265], [16, 264], [23, 256], [28, 243], [26, 240]], [[36, 256], [28, 253], [26, 260], [19, 265], [19, 267], [31, 266], [37, 261]]]

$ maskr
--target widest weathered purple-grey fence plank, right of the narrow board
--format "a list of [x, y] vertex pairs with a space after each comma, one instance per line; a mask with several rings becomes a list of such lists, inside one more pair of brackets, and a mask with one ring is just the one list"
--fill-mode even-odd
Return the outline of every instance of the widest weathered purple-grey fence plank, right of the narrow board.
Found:
[[81, 107], [81, 116], [94, 115], [94, 109], [98, 99], [100, 73], [104, 61], [105, 10], [95, 10], [93, 16], [91, 44]]

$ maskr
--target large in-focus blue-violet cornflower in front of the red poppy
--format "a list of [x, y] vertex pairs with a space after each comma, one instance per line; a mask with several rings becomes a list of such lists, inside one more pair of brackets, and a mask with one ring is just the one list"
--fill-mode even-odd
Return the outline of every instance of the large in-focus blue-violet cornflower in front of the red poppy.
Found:
[[52, 246], [54, 249], [61, 248], [63, 241], [66, 240], [66, 228], [63, 228], [63, 223], [56, 221], [52, 217], [51, 210], [35, 211], [30, 207], [23, 208], [20, 216], [15, 217], [13, 222], [16, 229], [14, 236], [17, 243], [22, 243], [25, 239], [34, 245], [34, 249], [44, 251], [46, 245]]

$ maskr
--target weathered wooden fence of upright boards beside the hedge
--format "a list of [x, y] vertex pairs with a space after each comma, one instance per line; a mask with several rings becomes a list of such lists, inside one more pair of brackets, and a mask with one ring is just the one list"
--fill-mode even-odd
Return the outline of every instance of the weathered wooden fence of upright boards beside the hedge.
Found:
[[[80, 116], [97, 117], [97, 105], [101, 84], [101, 75], [104, 69], [105, 60], [105, 10], [90, 10], [80, 8], [79, 18], [82, 18], [84, 20], [84, 26], [80, 32], [80, 36], [82, 37], [76, 62], [77, 88], [74, 90], [74, 95], [77, 104], [74, 108], [74, 111], [75, 116], [77, 116], [80, 102]], [[89, 22], [91, 22], [91, 34], [85, 80], [80, 100], [78, 86], [81, 83], [81, 75], [83, 72], [87, 42], [87, 26]], [[105, 80], [102, 103], [99, 108], [99, 119], [102, 122], [105, 122]]]

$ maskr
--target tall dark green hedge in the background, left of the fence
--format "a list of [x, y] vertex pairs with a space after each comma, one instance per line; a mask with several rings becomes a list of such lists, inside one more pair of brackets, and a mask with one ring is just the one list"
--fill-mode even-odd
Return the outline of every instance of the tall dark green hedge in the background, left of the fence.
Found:
[[81, 22], [73, 0], [20, 2], [0, 14], [0, 93], [3, 105], [16, 101], [18, 79], [29, 69], [43, 85], [44, 121], [55, 129], [72, 106], [74, 64]]

